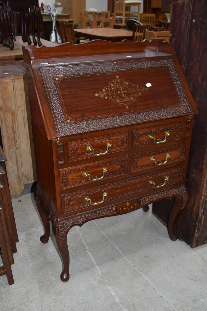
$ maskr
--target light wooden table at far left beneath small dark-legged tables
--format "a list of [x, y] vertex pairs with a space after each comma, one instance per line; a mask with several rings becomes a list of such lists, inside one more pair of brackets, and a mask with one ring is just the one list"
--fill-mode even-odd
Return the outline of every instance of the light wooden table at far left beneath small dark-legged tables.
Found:
[[[44, 39], [40, 39], [42, 44], [45, 46], [55, 46], [57, 45], [54, 42], [50, 42]], [[10, 50], [9, 48], [0, 45], [0, 62], [2, 61], [15, 61], [22, 60], [22, 45], [28, 45], [27, 42], [23, 43], [21, 36], [16, 37], [16, 41], [14, 41], [14, 49]]]

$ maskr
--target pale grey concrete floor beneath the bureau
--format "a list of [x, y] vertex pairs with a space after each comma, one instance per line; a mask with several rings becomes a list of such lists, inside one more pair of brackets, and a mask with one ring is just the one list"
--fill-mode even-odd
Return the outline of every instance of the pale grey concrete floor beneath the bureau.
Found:
[[12, 200], [19, 235], [12, 272], [0, 277], [1, 311], [206, 311], [207, 245], [172, 242], [142, 210], [90, 221], [68, 234], [70, 280], [60, 280], [54, 238], [43, 227], [33, 195]]

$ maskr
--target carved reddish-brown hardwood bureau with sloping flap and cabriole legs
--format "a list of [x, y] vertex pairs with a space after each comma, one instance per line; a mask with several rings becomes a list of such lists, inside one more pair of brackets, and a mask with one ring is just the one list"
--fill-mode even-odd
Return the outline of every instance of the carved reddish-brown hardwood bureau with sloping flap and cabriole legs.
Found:
[[74, 225], [175, 197], [168, 233], [176, 240], [197, 110], [172, 46], [162, 39], [30, 45], [23, 65], [40, 239], [47, 243], [51, 221], [61, 280], [69, 279], [67, 234]]

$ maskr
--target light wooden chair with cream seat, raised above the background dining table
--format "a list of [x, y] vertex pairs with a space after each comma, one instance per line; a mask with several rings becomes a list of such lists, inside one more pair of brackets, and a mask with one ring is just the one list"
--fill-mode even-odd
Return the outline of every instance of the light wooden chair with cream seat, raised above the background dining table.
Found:
[[[125, 16], [127, 20], [130, 16], [136, 16], [140, 20], [141, 3], [142, 1], [114, 0], [115, 16], [122, 16], [122, 25], [125, 25]], [[130, 11], [131, 7], [137, 7], [137, 11]]]

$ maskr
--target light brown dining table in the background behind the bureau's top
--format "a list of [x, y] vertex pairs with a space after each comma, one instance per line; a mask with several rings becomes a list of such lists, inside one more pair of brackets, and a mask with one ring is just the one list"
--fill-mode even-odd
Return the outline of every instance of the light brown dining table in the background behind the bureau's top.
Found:
[[124, 39], [132, 39], [132, 31], [114, 28], [82, 28], [74, 29], [76, 35], [87, 37], [90, 40], [101, 39], [120, 42]]

